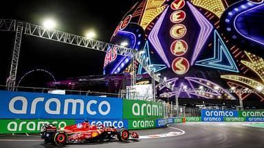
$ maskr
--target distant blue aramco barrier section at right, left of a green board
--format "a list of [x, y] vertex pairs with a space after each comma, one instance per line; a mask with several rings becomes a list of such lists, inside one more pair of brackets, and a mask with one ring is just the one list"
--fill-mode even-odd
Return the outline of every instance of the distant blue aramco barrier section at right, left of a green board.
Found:
[[224, 121], [224, 117], [238, 117], [236, 110], [201, 110], [201, 121]]

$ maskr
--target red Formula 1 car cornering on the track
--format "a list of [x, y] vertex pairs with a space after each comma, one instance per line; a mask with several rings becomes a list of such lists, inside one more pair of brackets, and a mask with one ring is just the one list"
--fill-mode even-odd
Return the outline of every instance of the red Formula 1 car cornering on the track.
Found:
[[65, 145], [67, 143], [89, 143], [103, 142], [116, 139], [126, 141], [139, 138], [136, 132], [129, 132], [124, 128], [104, 127], [103, 125], [89, 125], [88, 121], [62, 127], [59, 130], [55, 125], [43, 125], [41, 127], [41, 138], [45, 143]]

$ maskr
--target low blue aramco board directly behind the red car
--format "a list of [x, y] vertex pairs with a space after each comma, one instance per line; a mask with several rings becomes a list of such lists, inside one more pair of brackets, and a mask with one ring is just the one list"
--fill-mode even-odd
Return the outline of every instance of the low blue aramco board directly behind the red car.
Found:
[[[108, 120], [100, 120], [100, 119], [86, 119], [89, 121], [90, 125], [104, 125], [104, 127], [110, 127], [113, 126], [115, 128], [129, 128], [129, 123], [126, 119], [120, 120], [120, 119], [108, 119]], [[83, 120], [76, 120], [76, 123], [82, 123]]]

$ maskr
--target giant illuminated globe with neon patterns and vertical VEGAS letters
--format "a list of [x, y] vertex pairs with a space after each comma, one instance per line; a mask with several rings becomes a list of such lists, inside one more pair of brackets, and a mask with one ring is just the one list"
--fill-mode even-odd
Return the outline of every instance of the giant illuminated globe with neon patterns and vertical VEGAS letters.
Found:
[[[144, 51], [141, 58], [155, 73], [183, 88], [168, 93], [157, 85], [169, 97], [232, 100], [240, 95], [264, 102], [263, 17], [262, 0], [142, 0], [122, 18], [111, 43], [128, 42], [126, 47]], [[129, 57], [108, 51], [104, 74], [130, 71]], [[137, 74], [143, 73], [138, 65]]]

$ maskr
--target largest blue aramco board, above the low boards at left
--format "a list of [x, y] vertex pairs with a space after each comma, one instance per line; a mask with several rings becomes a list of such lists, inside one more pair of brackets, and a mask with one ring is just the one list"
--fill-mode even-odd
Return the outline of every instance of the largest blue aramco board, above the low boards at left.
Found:
[[0, 119], [122, 119], [122, 99], [0, 91]]

